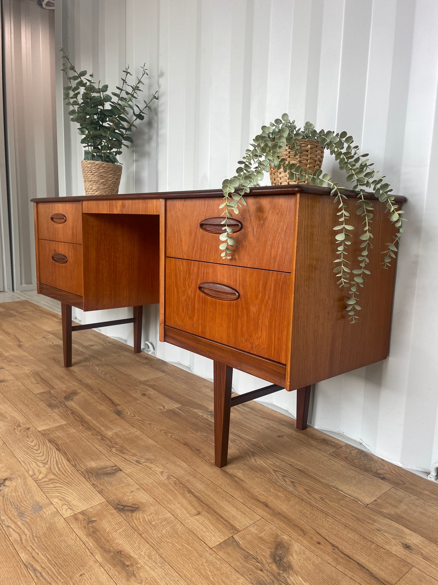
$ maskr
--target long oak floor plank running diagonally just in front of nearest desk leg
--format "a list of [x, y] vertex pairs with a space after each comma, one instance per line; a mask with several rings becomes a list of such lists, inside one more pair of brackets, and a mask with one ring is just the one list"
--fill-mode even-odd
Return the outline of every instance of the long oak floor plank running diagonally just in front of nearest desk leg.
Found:
[[[224, 490], [245, 502], [263, 518], [280, 526], [302, 546], [320, 558], [336, 559], [336, 566], [360, 583], [393, 584], [410, 567], [387, 550], [369, 539], [356, 534], [352, 529], [334, 521], [283, 488], [259, 476], [258, 472], [243, 467], [242, 475], [236, 476], [236, 466], [228, 464], [221, 473], [213, 464], [211, 446], [196, 435], [185, 432], [179, 425], [161, 424], [157, 415], [149, 415], [141, 404], [118, 407], [119, 413], [135, 428], [155, 438], [169, 451], [178, 454], [194, 469], [220, 483]], [[227, 481], [228, 480], [228, 481]]]

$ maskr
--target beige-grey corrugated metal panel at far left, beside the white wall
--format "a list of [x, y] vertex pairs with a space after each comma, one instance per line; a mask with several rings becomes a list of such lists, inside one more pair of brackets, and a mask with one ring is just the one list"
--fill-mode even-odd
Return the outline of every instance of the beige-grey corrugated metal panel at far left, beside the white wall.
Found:
[[54, 14], [4, 0], [6, 135], [15, 290], [35, 288], [32, 197], [56, 197]]

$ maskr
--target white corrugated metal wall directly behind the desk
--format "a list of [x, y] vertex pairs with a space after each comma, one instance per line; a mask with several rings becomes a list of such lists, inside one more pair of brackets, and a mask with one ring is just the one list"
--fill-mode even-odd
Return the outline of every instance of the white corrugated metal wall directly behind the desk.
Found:
[[[55, 12], [57, 44], [79, 68], [115, 85], [125, 64], [138, 71], [146, 61], [145, 91], [159, 88], [157, 115], [123, 159], [121, 193], [219, 187], [260, 125], [287, 111], [347, 130], [409, 198], [390, 359], [318, 384], [311, 422], [429, 470], [438, 460], [438, 3], [67, 0]], [[59, 73], [57, 82], [60, 192], [79, 194], [82, 150], [61, 119]], [[324, 166], [342, 177], [328, 157]], [[157, 347], [157, 307], [146, 321], [144, 339]], [[110, 334], [131, 337], [128, 327]], [[158, 343], [157, 355], [212, 376], [209, 360], [176, 347]], [[246, 374], [234, 381], [238, 391], [258, 386]], [[293, 414], [294, 394], [270, 401]]]

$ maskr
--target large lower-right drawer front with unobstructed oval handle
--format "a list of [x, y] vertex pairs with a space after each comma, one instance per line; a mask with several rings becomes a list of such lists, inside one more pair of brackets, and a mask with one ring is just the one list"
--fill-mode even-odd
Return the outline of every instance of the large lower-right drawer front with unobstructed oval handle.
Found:
[[166, 259], [165, 324], [286, 363], [290, 274]]

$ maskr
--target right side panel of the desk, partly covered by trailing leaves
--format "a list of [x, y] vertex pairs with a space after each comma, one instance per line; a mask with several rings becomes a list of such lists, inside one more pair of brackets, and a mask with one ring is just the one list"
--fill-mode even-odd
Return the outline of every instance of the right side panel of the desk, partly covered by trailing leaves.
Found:
[[[353, 199], [347, 201], [356, 243], [347, 259], [357, 266], [361, 218]], [[360, 318], [351, 324], [345, 312], [347, 289], [340, 290], [333, 274], [336, 244], [333, 226], [338, 208], [332, 198], [307, 194], [300, 197], [294, 280], [291, 352], [288, 388], [294, 390], [380, 362], [388, 355], [395, 263], [381, 268], [381, 250], [391, 242], [394, 228], [384, 214], [385, 205], [373, 202], [373, 249], [364, 288], [360, 288]]]

